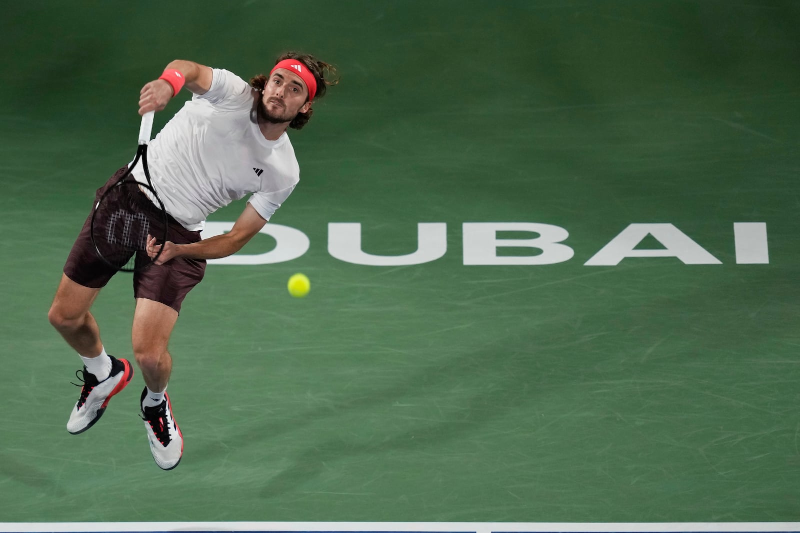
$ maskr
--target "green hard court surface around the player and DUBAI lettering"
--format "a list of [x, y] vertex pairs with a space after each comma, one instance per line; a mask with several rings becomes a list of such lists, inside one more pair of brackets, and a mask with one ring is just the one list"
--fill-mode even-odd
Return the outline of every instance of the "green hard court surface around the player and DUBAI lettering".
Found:
[[[800, 521], [798, 2], [3, 12], [0, 522]], [[290, 133], [301, 182], [268, 225], [308, 250], [210, 265], [187, 297], [176, 470], [138, 373], [71, 436], [79, 360], [47, 310], [139, 89], [292, 49], [342, 77]], [[115, 356], [133, 305], [120, 275], [94, 306]]]

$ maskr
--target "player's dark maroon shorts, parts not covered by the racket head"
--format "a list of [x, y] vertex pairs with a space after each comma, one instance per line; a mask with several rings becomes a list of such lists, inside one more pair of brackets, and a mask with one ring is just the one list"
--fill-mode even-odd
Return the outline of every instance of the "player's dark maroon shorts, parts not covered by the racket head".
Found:
[[[102, 193], [122, 178], [126, 171], [127, 167], [122, 167], [114, 173], [106, 185], [94, 193], [92, 205], [97, 204]], [[169, 218], [167, 238], [170, 241], [176, 245], [200, 241], [200, 232], [189, 231], [173, 217], [169, 215], [167, 217]], [[72, 246], [70, 256], [66, 258], [64, 273], [70, 280], [84, 287], [101, 288], [106, 286], [117, 271], [98, 257], [92, 244], [91, 221], [90, 213]], [[134, 297], [155, 300], [180, 312], [183, 299], [194, 285], [200, 283], [204, 272], [206, 272], [206, 261], [203, 259], [177, 257], [164, 265], [151, 265], [149, 268], [134, 272]]]

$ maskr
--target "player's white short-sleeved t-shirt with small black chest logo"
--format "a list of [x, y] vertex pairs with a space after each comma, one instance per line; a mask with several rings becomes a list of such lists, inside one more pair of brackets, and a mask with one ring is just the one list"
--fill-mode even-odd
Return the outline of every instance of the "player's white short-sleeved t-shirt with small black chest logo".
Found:
[[[167, 213], [192, 231], [248, 193], [248, 202], [270, 220], [300, 180], [286, 132], [267, 141], [258, 129], [255, 89], [227, 70], [213, 72], [210, 89], [187, 101], [147, 149], [150, 178]], [[146, 183], [141, 165], [133, 175]]]

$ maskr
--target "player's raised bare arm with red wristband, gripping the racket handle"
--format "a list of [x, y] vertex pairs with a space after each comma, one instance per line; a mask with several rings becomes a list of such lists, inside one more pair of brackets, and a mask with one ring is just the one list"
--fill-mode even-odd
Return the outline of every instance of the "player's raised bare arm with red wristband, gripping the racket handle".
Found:
[[139, 114], [148, 111], [161, 111], [170, 98], [178, 94], [182, 87], [192, 93], [202, 94], [211, 88], [212, 71], [210, 67], [176, 59], [166, 66], [158, 79], [148, 82], [139, 92]]

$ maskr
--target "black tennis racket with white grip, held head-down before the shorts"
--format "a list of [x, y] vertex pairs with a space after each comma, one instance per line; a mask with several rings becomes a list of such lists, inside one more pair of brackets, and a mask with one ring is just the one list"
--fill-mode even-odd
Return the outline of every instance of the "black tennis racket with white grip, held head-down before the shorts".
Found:
[[[98, 256], [112, 268], [122, 272], [143, 270], [153, 265], [166, 243], [167, 215], [164, 204], [150, 181], [147, 168], [147, 143], [153, 130], [154, 112], [142, 116], [139, 146], [128, 171], [102, 194], [92, 213], [92, 244]], [[136, 181], [131, 170], [142, 161], [147, 183]], [[161, 243], [158, 255], [147, 255], [147, 235]]]

